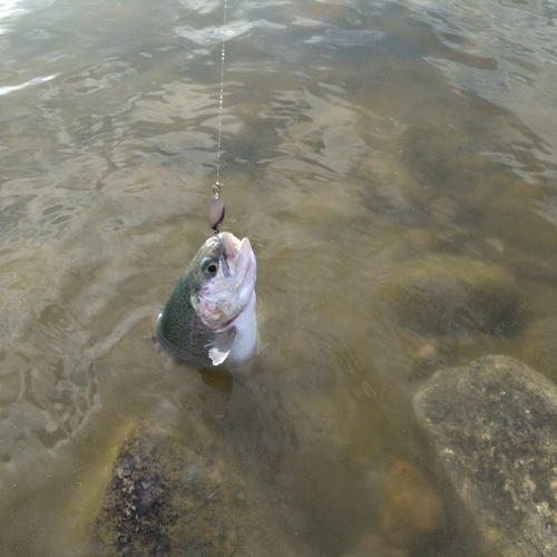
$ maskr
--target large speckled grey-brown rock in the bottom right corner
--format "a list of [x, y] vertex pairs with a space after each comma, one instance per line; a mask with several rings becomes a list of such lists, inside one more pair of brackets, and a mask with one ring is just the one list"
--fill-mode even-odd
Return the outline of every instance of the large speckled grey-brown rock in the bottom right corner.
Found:
[[557, 556], [557, 387], [490, 355], [438, 371], [413, 402], [478, 551]]

